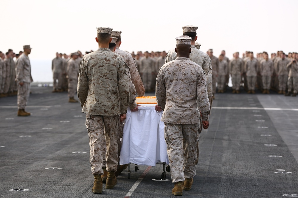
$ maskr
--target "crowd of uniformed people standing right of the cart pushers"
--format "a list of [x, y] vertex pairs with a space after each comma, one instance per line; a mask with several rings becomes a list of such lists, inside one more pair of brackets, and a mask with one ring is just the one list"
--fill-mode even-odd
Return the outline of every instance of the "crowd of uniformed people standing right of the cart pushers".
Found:
[[239, 52], [233, 54], [233, 59], [229, 61], [225, 57], [225, 52], [217, 58], [208, 50], [207, 54], [212, 60], [213, 96], [215, 93], [215, 83], [217, 83], [218, 93], [224, 93], [229, 80], [232, 78], [232, 93], [240, 93], [242, 86], [249, 94], [255, 94], [255, 89], [259, 88], [263, 94], [269, 94], [269, 90], [278, 91], [278, 94], [285, 96], [296, 96], [298, 91], [298, 66], [297, 53], [283, 51], [271, 53], [258, 53], [254, 57], [253, 52], [243, 53], [243, 58], [239, 58]]

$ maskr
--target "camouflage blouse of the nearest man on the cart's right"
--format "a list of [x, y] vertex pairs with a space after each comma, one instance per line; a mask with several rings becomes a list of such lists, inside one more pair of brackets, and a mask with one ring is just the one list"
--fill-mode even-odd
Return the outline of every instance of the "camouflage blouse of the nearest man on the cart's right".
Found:
[[156, 100], [164, 110], [161, 120], [172, 124], [196, 124], [200, 122], [200, 109], [203, 120], [209, 121], [206, 84], [203, 69], [189, 58], [177, 57], [164, 64], [156, 78]]

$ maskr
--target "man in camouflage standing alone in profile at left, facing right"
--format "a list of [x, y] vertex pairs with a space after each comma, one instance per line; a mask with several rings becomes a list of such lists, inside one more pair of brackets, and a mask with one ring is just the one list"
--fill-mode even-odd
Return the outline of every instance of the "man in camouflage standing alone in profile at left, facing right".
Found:
[[24, 53], [16, 60], [15, 80], [18, 83], [18, 116], [28, 116], [25, 111], [30, 95], [30, 83], [33, 82], [31, 76], [31, 65], [28, 55], [31, 53], [30, 45], [24, 45]]

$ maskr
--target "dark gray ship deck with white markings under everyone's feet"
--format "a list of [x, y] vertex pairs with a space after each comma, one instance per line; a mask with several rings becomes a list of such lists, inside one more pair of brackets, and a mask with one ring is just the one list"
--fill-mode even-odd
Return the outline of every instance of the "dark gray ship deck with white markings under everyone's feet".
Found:
[[[88, 133], [80, 104], [68, 103], [66, 93], [51, 93], [50, 87], [32, 86], [31, 91], [26, 109], [32, 113], [30, 117], [16, 116], [16, 96], [0, 98], [1, 198], [176, 197], [171, 194], [171, 181], [152, 180], [161, 177], [162, 164], [139, 166], [137, 172], [132, 164], [130, 179], [125, 170], [114, 189], [103, 186], [103, 194], [93, 194]], [[298, 194], [298, 97], [274, 93], [215, 96], [210, 127], [200, 135], [197, 175], [183, 197]], [[72, 153], [75, 151], [86, 153]], [[48, 167], [62, 169], [45, 169]], [[274, 173], [277, 170], [292, 173]], [[128, 194], [130, 190], [132, 194]]]

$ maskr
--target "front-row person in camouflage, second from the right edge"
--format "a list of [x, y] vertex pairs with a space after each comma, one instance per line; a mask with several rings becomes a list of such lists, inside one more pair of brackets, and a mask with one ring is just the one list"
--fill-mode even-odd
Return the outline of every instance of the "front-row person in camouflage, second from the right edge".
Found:
[[278, 77], [278, 87], [279, 94], [285, 94], [285, 90], [287, 88], [288, 81], [288, 69], [287, 64], [289, 64], [288, 58], [285, 58], [285, 53], [281, 55], [281, 59], [277, 61], [276, 64], [276, 74]]

